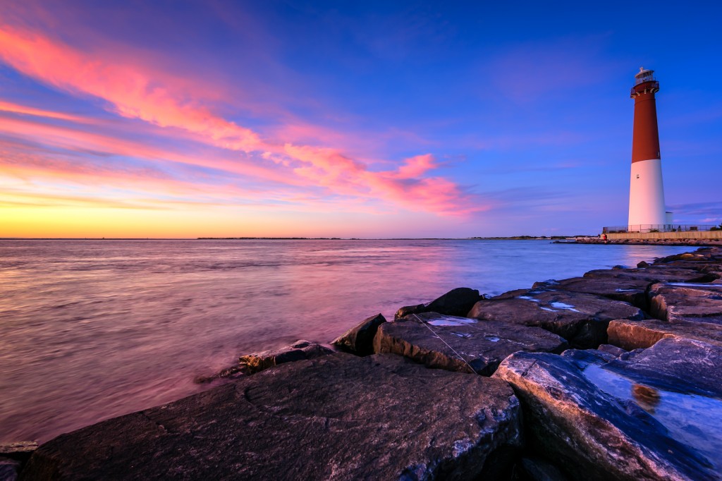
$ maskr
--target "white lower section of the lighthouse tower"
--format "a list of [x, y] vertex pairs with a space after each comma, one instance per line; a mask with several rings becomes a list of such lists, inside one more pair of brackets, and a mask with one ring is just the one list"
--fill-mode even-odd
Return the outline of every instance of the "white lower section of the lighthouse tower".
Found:
[[652, 229], [661, 229], [666, 223], [662, 161], [650, 159], [632, 162], [629, 229], [640, 230], [637, 226], [641, 225], [654, 225], [659, 227]]

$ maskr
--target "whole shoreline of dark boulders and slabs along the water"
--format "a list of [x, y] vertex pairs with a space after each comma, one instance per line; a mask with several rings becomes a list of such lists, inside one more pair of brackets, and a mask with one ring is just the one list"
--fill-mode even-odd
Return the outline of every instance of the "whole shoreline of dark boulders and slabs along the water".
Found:
[[222, 386], [0, 446], [0, 479], [720, 480], [721, 277], [705, 247], [461, 287], [335, 351], [243, 355]]

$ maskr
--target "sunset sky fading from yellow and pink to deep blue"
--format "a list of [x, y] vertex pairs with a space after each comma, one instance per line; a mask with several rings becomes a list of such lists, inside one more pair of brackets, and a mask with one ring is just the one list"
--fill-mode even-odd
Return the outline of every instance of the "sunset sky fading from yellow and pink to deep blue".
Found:
[[668, 210], [722, 222], [716, 1], [0, 0], [0, 238], [624, 225], [634, 74]]

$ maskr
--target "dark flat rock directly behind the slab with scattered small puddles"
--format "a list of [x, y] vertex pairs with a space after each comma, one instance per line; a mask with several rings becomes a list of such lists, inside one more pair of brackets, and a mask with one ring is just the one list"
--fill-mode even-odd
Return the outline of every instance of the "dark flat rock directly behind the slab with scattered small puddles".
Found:
[[643, 311], [649, 308], [647, 290], [652, 285], [648, 280], [635, 278], [614, 277], [573, 277], [555, 281], [554, 285], [545, 282], [536, 282], [534, 289], [552, 287], [570, 293], [586, 293], [603, 295], [605, 298], [622, 300], [632, 304]]

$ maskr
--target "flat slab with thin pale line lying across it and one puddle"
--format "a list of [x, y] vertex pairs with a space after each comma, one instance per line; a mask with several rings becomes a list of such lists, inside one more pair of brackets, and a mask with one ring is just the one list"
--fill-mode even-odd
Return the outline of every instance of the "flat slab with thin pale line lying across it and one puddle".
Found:
[[538, 327], [422, 313], [380, 326], [376, 352], [393, 352], [430, 368], [491, 376], [517, 351], [562, 352], [567, 342]]

